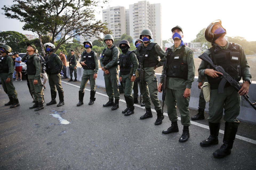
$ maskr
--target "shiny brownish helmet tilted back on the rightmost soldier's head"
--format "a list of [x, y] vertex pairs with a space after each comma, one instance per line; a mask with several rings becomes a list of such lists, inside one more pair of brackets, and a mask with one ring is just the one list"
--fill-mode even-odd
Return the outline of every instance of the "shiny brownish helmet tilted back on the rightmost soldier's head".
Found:
[[[217, 34], [211, 32], [211, 29], [216, 24], [218, 24], [218, 25], [220, 25], [222, 27], [221, 20], [217, 19], [217, 20], [213, 21], [212, 23], [210, 23], [210, 25], [208, 25], [208, 27], [205, 29], [205, 39], [207, 41], [209, 41], [210, 43], [212, 43], [212, 44], [218, 38], [218, 36], [220, 36], [219, 34], [217, 35]], [[227, 33], [226, 29], [225, 28], [223, 28], [223, 29], [225, 30], [225, 32], [223, 32], [222, 34], [226, 34]]]

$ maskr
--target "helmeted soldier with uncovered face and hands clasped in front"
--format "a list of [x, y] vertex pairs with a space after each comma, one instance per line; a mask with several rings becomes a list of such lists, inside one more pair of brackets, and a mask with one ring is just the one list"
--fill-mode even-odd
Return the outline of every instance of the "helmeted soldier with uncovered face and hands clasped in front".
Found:
[[[104, 80], [109, 101], [103, 104], [103, 107], [113, 106], [111, 110], [119, 108], [119, 89], [118, 89], [118, 67], [117, 60], [119, 56], [118, 48], [113, 44], [114, 38], [112, 35], [107, 34], [104, 37], [104, 43], [107, 47], [103, 49], [100, 58], [101, 69], [104, 71]], [[115, 103], [114, 103], [115, 97]]]

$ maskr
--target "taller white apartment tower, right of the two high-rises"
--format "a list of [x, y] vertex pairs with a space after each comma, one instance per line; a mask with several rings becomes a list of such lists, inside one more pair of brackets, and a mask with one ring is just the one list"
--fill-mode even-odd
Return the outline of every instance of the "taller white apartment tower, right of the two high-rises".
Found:
[[154, 42], [162, 47], [162, 7], [160, 3], [139, 1], [129, 5], [130, 36], [139, 38], [143, 29], [152, 31]]

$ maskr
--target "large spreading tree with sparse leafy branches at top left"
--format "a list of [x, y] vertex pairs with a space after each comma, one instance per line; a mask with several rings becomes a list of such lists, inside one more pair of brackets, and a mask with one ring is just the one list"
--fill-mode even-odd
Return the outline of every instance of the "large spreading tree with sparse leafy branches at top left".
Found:
[[[41, 42], [43, 35], [50, 35], [50, 42], [60, 37], [56, 50], [68, 40], [78, 35], [89, 35], [100, 38], [100, 33], [110, 31], [101, 20], [94, 16], [94, 6], [100, 0], [13, 0], [16, 4], [3, 6], [7, 18], [25, 22], [23, 30], [37, 33]], [[103, 1], [104, 3], [105, 1]], [[44, 53], [42, 42], [41, 48]]]

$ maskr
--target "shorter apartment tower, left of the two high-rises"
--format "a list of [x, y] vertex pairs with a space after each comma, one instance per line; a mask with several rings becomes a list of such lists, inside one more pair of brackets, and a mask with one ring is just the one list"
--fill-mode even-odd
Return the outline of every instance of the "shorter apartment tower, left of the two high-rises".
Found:
[[102, 10], [102, 21], [107, 23], [107, 27], [112, 31], [114, 39], [120, 39], [126, 33], [126, 13], [125, 7], [114, 6]]

